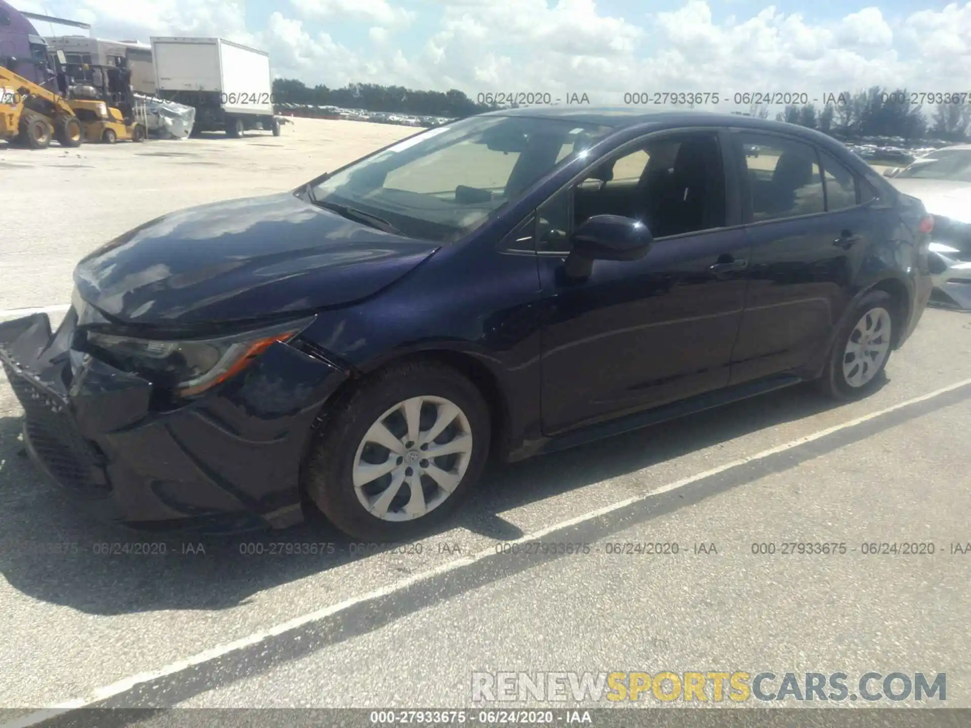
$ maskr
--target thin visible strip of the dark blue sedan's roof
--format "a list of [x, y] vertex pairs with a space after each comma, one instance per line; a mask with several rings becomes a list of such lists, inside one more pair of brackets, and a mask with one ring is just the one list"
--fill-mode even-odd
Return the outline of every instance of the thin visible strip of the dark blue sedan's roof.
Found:
[[617, 129], [649, 124], [658, 127], [736, 126], [760, 131], [778, 131], [786, 134], [796, 134], [812, 140], [818, 140], [820, 137], [820, 132], [814, 129], [799, 126], [798, 124], [790, 124], [785, 121], [771, 121], [766, 118], [738, 114], [718, 114], [715, 112], [695, 111], [693, 109], [653, 111], [625, 106], [531, 106], [519, 109], [498, 109], [492, 112], [485, 112], [481, 116], [560, 118], [577, 121], [578, 123], [611, 126]]

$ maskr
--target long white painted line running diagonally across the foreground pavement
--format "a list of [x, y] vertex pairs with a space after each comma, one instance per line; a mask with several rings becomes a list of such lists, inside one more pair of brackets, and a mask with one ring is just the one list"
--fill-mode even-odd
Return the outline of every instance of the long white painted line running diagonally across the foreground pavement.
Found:
[[[840, 430], [846, 430], [851, 427], [855, 427], [856, 425], [862, 424], [863, 422], [866, 422], [868, 420], [875, 419], [876, 417], [883, 416], [884, 414], [895, 412], [896, 410], [902, 410], [905, 407], [910, 407], [911, 405], [915, 405], [919, 402], [923, 402], [924, 400], [932, 399], [934, 397], [940, 396], [947, 392], [953, 391], [954, 389], [960, 389], [961, 387], [967, 386], [969, 384], [971, 384], [971, 379], [958, 381], [949, 386], [941, 387], [940, 389], [935, 389], [932, 392], [923, 394], [920, 397], [914, 397], [913, 399], [909, 399], [906, 402], [900, 402], [898, 404], [891, 405], [890, 407], [887, 407], [883, 410], [878, 410], [870, 414], [864, 414], [862, 416], [848, 420], [841, 424], [834, 425], [832, 427], [827, 427], [826, 429], [820, 430], [819, 432], [814, 432], [811, 435], [806, 435], [801, 438], [796, 438], [795, 440], [790, 440], [789, 442], [783, 445], [770, 447], [769, 449], [762, 450], [761, 452], [757, 452], [754, 455], [741, 457], [741, 458], [738, 458], [737, 460], [732, 460], [731, 462], [720, 465], [717, 468], [706, 470], [703, 473], [697, 473], [693, 476], [688, 476], [687, 478], [683, 478], [682, 480], [675, 480], [674, 482], [667, 483], [666, 485], [661, 485], [660, 487], [654, 488], [649, 493], [632, 496], [630, 498], [626, 498], [617, 503], [613, 503], [609, 506], [604, 506], [603, 508], [599, 508], [596, 511], [591, 511], [589, 513], [584, 513], [583, 515], [579, 515], [574, 518], [568, 518], [567, 520], [562, 520], [557, 523], [553, 523], [552, 525], [547, 526], [546, 528], [542, 528], [538, 531], [533, 531], [532, 533], [526, 534], [521, 538], [516, 539], [515, 541], [504, 542], [504, 543], [509, 543], [510, 545], [517, 545], [517, 544], [525, 544], [528, 542], [534, 542], [534, 541], [540, 540], [544, 536], [547, 536], [561, 529], [570, 528], [572, 526], [579, 525], [581, 523], [592, 520], [594, 518], [598, 518], [602, 515], [619, 511], [620, 509], [627, 508], [628, 506], [632, 506], [642, 501], [646, 501], [662, 493], [669, 493], [672, 490], [678, 490], [679, 488], [684, 488], [687, 485], [690, 485], [692, 482], [711, 478], [712, 476], [718, 475], [719, 473], [722, 473], [726, 470], [731, 470], [732, 468], [737, 468], [741, 465], [745, 465], [746, 463], [751, 463], [753, 460], [761, 460], [763, 458], [769, 457], [770, 455], [774, 455], [778, 452], [783, 452], [793, 447], [799, 447], [801, 445], [805, 445], [806, 443], [811, 443], [814, 440], [820, 440], [820, 438], [824, 438], [827, 435], [831, 435], [835, 432], [839, 432]], [[464, 566], [469, 566], [471, 564], [476, 563], [477, 561], [484, 559], [487, 556], [492, 556], [494, 554], [495, 554], [495, 548], [493, 546], [489, 546], [488, 548], [485, 548], [481, 551], [477, 551], [476, 553], [472, 553], [472, 554], [469, 554], [468, 556], [463, 556], [461, 558], [456, 558], [447, 564], [442, 564], [435, 568], [428, 569], [426, 571], [420, 572], [419, 574], [415, 574], [406, 579], [400, 579], [398, 581], [395, 581], [393, 584], [389, 584], [388, 586], [383, 586], [381, 588], [374, 589], [372, 591], [366, 592], [359, 596], [352, 597], [351, 599], [345, 600], [344, 602], [340, 602], [339, 604], [335, 604], [330, 607], [324, 607], [315, 612], [308, 612], [306, 614], [302, 614], [300, 616], [294, 617], [293, 619], [282, 622], [281, 624], [277, 624], [268, 629], [254, 632], [248, 637], [243, 637], [239, 640], [235, 640], [233, 642], [229, 642], [224, 645], [218, 645], [210, 649], [203, 650], [190, 657], [186, 657], [182, 660], [178, 660], [157, 670], [152, 670], [150, 672], [133, 675], [129, 678], [123, 678], [118, 680], [117, 682], [113, 682], [110, 685], [104, 685], [102, 687], [95, 688], [90, 693], [88, 693], [84, 698], [76, 698], [74, 700], [70, 700], [64, 703], [57, 704], [55, 706], [51, 706], [49, 709], [32, 712], [28, 715], [24, 715], [11, 722], [4, 723], [0, 725], [0, 728], [27, 728], [27, 726], [36, 725], [60, 713], [76, 710], [79, 708], [84, 708], [85, 706], [89, 706], [91, 704], [98, 703], [108, 698], [117, 696], [118, 694], [131, 689], [132, 687], [134, 687], [135, 685], [141, 682], [147, 682], [158, 678], [164, 678], [165, 676], [181, 672], [192, 666], [200, 665], [210, 660], [217, 659], [218, 657], [229, 654], [231, 652], [235, 652], [237, 650], [243, 649], [250, 645], [255, 645], [257, 643], [260, 643], [268, 638], [276, 637], [286, 632], [296, 630], [311, 622], [321, 620], [325, 617], [331, 616], [339, 612], [344, 612], [362, 602], [368, 602], [374, 599], [380, 599], [380, 598], [386, 597], [389, 594], [393, 594], [394, 592], [406, 589], [412, 584], [415, 584], [419, 581], [430, 579], [430, 578], [439, 576], [441, 574], [446, 574], [448, 572], [452, 572], [457, 569], [460, 569], [461, 567], [464, 567]]]

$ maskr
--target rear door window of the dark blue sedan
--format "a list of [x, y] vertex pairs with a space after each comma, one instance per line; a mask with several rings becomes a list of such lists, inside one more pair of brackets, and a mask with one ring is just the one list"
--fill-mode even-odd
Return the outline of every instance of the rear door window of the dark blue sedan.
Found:
[[769, 135], [740, 136], [753, 222], [825, 212], [816, 149]]

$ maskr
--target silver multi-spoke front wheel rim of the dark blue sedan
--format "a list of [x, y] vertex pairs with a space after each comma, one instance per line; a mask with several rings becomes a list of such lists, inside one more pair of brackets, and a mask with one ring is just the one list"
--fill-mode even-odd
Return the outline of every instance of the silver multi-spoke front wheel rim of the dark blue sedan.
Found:
[[438, 508], [462, 481], [472, 428], [443, 397], [412, 397], [378, 417], [354, 455], [354, 492], [377, 518], [405, 521]]

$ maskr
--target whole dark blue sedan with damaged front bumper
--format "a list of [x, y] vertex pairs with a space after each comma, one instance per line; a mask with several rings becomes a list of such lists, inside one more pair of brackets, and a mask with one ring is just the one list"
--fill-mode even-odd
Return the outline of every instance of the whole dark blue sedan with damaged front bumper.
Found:
[[151, 220], [80, 262], [56, 333], [0, 324], [0, 358], [28, 452], [106, 517], [283, 527], [316, 504], [394, 541], [489, 456], [799, 381], [864, 396], [924, 310], [931, 225], [798, 126], [495, 112]]

